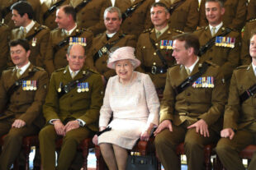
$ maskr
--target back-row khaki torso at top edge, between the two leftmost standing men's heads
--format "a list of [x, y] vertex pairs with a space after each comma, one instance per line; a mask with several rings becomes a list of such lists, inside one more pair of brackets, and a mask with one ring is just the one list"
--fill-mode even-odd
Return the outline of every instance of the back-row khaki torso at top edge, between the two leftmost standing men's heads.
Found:
[[69, 0], [42, 0], [40, 7], [40, 23], [46, 25], [50, 30], [58, 27], [55, 22], [56, 11], [62, 5], [68, 5]]

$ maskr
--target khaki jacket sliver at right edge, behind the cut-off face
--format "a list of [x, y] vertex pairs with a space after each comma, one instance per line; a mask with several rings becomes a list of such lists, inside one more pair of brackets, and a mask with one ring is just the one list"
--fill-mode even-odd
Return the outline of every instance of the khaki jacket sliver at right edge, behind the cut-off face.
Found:
[[244, 26], [244, 35], [242, 39], [240, 63], [241, 65], [249, 65], [252, 62], [252, 57], [249, 55], [249, 39], [252, 30], [256, 28], [256, 20], [246, 22]]

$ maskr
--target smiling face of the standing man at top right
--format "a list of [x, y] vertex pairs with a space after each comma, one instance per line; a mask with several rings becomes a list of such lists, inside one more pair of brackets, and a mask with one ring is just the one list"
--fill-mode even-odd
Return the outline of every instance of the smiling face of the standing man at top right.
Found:
[[219, 2], [206, 2], [206, 18], [210, 25], [219, 25], [224, 13], [225, 8], [220, 7]]

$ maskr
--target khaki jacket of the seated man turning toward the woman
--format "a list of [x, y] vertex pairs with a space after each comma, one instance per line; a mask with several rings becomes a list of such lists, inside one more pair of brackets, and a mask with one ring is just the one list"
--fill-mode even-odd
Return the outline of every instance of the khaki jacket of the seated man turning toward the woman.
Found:
[[[201, 63], [200, 60], [191, 75], [199, 71], [199, 63]], [[179, 126], [186, 120], [189, 124], [193, 124], [198, 119], [203, 119], [210, 128], [220, 132], [227, 99], [226, 87], [219, 67], [208, 63], [210, 66], [201, 77], [212, 76], [214, 87], [194, 88], [190, 86], [180, 94], [175, 93], [175, 88], [187, 79], [187, 71], [180, 65], [168, 69], [164, 99], [160, 108], [160, 122], [171, 120], [174, 125]]]

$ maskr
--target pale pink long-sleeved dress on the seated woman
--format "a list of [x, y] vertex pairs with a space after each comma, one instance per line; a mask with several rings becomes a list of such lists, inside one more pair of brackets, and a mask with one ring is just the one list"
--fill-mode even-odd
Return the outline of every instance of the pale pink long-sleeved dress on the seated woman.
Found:
[[111, 126], [111, 131], [98, 136], [98, 144], [111, 143], [132, 149], [150, 123], [159, 125], [159, 98], [154, 84], [148, 75], [136, 74], [127, 85], [122, 85], [118, 76], [108, 80], [99, 126]]

